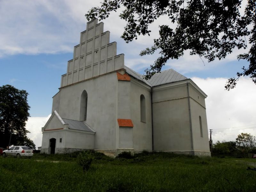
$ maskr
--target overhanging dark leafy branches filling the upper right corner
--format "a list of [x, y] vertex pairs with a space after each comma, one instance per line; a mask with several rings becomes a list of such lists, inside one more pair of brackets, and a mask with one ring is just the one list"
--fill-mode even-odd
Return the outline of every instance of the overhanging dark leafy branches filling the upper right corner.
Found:
[[[153, 54], [159, 50], [160, 57], [146, 69], [145, 78], [151, 78], [169, 59], [178, 59], [189, 50], [211, 62], [223, 59], [234, 48], [249, 48], [237, 59], [249, 61], [236, 77], [228, 79], [225, 88], [233, 89], [240, 76], [249, 76], [256, 84], [256, 0], [248, 0], [244, 13], [240, 14], [242, 0], [103, 0], [85, 14], [87, 20], [98, 17], [106, 19], [111, 11], [121, 7], [119, 15], [127, 22], [121, 36], [126, 43], [139, 35], [150, 35], [148, 26], [162, 15], [170, 23], [159, 26], [158, 39], [140, 55]], [[171, 27], [175, 23], [176, 27]]]

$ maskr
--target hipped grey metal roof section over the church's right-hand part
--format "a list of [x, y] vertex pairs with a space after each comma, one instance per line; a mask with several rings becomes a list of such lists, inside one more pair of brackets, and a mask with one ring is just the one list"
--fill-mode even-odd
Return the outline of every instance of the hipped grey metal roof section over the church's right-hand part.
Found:
[[152, 86], [166, 84], [166, 83], [172, 83], [177, 81], [182, 81], [188, 79], [187, 77], [181, 75], [177, 71], [174, 71], [173, 69], [167, 69], [162, 71], [161, 73], [156, 73], [151, 77], [151, 79], [148, 80], [148, 82]]

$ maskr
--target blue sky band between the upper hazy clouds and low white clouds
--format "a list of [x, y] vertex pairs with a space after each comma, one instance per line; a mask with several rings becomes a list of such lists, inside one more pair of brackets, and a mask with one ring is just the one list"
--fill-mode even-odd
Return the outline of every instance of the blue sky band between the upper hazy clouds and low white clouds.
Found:
[[[124, 45], [125, 47], [125, 45]], [[125, 50], [124, 50], [125, 51]], [[52, 96], [60, 87], [60, 76], [67, 71], [67, 61], [72, 59], [73, 53], [36, 54], [36, 55], [8, 55], [0, 58], [0, 82], [2, 85], [11, 84], [29, 93], [28, 102], [31, 107], [30, 116], [47, 116], [51, 113]], [[125, 58], [127, 55], [125, 55]], [[128, 55], [128, 58], [140, 58], [139, 55]], [[199, 61], [200, 62], [200, 61]], [[149, 63], [151, 64], [151, 63]], [[200, 63], [199, 63], [200, 64]], [[201, 61], [201, 65], [204, 63]], [[217, 65], [212, 69], [211, 63], [205, 62], [203, 71], [182, 73], [184, 76], [200, 78], [232, 77], [241, 66], [247, 66], [247, 61], [229, 61]], [[137, 72], [143, 74], [145, 67]], [[164, 66], [164, 69], [169, 66]], [[177, 70], [176, 68], [174, 68]], [[178, 70], [177, 70], [178, 71]], [[222, 85], [224, 87], [224, 84]]]

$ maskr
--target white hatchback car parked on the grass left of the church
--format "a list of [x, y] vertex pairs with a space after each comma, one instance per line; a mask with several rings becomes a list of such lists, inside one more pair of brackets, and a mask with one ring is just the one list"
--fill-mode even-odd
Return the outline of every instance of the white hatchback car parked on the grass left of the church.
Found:
[[10, 149], [3, 151], [3, 157], [15, 156], [17, 158], [28, 156], [33, 156], [33, 150], [26, 146], [13, 146]]

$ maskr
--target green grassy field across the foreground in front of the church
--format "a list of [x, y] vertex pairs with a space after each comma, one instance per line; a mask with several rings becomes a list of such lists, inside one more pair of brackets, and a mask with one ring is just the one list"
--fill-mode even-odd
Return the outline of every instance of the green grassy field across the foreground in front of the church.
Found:
[[[166, 153], [112, 159], [98, 153], [88, 171], [77, 154], [0, 157], [0, 191], [256, 191], [256, 159]], [[250, 163], [250, 165], [248, 165]]]

